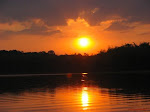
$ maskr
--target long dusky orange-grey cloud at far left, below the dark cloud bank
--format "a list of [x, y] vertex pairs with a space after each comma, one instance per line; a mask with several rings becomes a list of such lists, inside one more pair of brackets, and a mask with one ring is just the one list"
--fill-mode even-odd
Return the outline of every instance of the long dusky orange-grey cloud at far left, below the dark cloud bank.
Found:
[[7, 37], [11, 35], [53, 35], [56, 33], [61, 33], [55, 27], [47, 26], [41, 19], [32, 19], [25, 22], [11, 22], [11, 23], [1, 23], [0, 24], [0, 36]]

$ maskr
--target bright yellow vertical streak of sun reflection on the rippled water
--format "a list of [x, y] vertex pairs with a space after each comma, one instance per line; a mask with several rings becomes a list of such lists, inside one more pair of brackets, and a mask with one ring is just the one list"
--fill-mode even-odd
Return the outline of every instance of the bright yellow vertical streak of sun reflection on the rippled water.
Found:
[[82, 88], [82, 107], [83, 110], [87, 110], [89, 106], [89, 95], [88, 95], [88, 88], [83, 87]]

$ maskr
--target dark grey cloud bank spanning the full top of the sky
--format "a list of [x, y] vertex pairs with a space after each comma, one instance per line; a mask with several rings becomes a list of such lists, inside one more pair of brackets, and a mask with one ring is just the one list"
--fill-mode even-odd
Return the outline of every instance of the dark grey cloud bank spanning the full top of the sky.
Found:
[[48, 25], [65, 25], [67, 18], [82, 16], [96, 25], [120, 16], [128, 22], [150, 23], [150, 0], [1, 0], [0, 6], [1, 22], [40, 18]]

